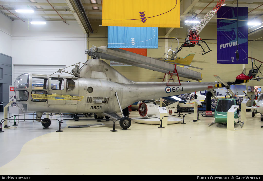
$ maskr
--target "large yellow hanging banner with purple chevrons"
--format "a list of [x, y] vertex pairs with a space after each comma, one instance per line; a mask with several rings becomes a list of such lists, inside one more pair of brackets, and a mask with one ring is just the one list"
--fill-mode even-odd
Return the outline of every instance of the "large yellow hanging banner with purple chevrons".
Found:
[[179, 0], [103, 0], [102, 26], [180, 27]]

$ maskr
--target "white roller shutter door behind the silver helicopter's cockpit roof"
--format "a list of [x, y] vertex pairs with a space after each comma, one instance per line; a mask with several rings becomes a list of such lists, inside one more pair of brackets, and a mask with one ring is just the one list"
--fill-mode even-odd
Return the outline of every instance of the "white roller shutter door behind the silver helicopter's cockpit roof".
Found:
[[[49, 76], [54, 72], [58, 71], [58, 69], [62, 69], [65, 67], [65, 65], [14, 65], [13, 83], [18, 76], [24, 73], [44, 74]], [[58, 75], [58, 73], [55, 73], [53, 75]], [[62, 72], [60, 75], [62, 76], [69, 74]]]

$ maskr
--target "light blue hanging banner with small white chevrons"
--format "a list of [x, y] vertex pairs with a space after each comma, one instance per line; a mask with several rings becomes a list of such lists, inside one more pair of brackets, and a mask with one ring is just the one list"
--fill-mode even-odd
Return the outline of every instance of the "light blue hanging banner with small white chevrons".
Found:
[[158, 48], [158, 28], [109, 26], [108, 48]]

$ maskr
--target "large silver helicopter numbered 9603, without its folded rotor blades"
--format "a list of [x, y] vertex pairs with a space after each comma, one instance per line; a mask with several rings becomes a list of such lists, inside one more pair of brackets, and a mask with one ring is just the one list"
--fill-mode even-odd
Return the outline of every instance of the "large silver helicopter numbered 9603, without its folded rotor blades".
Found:
[[[95, 119], [108, 116], [127, 129], [131, 120], [124, 117], [122, 109], [136, 101], [224, 87], [215, 82], [134, 82], [97, 56], [96, 59], [89, 59], [81, 68], [79, 63], [74, 66], [72, 73], [64, 69], [58, 71], [73, 76], [20, 75], [14, 83], [19, 109], [36, 112], [36, 120], [43, 126], [51, 124], [50, 119], [41, 119], [44, 112], [94, 113]], [[243, 81], [229, 82], [239, 83]], [[119, 112], [122, 117], [118, 115]]]

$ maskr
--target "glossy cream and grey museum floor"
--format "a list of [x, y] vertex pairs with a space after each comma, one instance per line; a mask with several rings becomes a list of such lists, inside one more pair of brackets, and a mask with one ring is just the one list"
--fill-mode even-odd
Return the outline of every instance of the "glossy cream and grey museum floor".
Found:
[[68, 120], [62, 124], [63, 132], [55, 132], [57, 121], [49, 129], [43, 129], [39, 122], [20, 120], [17, 128], [3, 129], [5, 132], [0, 133], [0, 174], [263, 174], [260, 114], [252, 118], [251, 112], [247, 112], [244, 127], [235, 125], [236, 131], [219, 124], [208, 127], [213, 122], [209, 117], [200, 116], [201, 120], [193, 122], [193, 116], [186, 115], [186, 124], [168, 125], [164, 129], [132, 121], [125, 131], [117, 124], [118, 132], [110, 132], [112, 122], [103, 122], [105, 127], [68, 128], [67, 125], [97, 123]]

